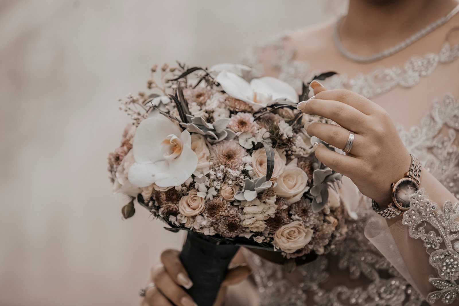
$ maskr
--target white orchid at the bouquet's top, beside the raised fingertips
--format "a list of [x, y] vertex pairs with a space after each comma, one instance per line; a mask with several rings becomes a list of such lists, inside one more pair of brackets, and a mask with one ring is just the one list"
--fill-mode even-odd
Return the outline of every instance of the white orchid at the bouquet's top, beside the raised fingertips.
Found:
[[255, 111], [282, 99], [298, 103], [295, 89], [277, 78], [254, 78], [249, 83], [235, 73], [222, 71], [215, 80], [228, 95], [246, 102]]

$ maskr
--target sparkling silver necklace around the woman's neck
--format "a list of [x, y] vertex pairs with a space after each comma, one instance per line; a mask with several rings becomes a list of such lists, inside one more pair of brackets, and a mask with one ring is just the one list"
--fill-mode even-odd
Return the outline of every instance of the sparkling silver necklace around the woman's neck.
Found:
[[425, 35], [431, 33], [433, 30], [435, 30], [437, 28], [440, 28], [443, 24], [448, 22], [458, 12], [459, 12], [459, 5], [456, 6], [452, 11], [450, 11], [448, 13], [448, 15], [437, 19], [437, 21], [435, 21], [435, 22], [432, 22], [431, 24], [429, 24], [427, 27], [423, 28], [419, 32], [414, 33], [409, 38], [403, 40], [400, 44], [395, 45], [395, 46], [393, 46], [393, 47], [391, 47], [389, 49], [383, 50], [381, 52], [378, 52], [378, 53], [370, 55], [370, 56], [360, 56], [360, 55], [354, 54], [354, 53], [346, 50], [346, 48], [344, 48], [344, 46], [341, 43], [340, 34], [339, 34], [339, 29], [340, 29], [343, 17], [341, 17], [338, 20], [338, 22], [336, 22], [336, 24], [335, 24], [335, 28], [334, 28], [334, 31], [333, 31], [333, 39], [335, 40], [336, 47], [338, 48], [338, 51], [341, 53], [342, 56], [347, 57], [349, 60], [355, 61], [355, 62], [358, 62], [358, 63], [371, 63], [371, 62], [374, 62], [374, 61], [379, 61], [379, 60], [381, 60], [383, 58], [386, 58], [388, 56], [391, 56], [391, 55], [393, 55], [393, 54], [405, 49], [409, 45], [412, 45], [414, 42], [416, 42], [417, 40], [423, 38]]

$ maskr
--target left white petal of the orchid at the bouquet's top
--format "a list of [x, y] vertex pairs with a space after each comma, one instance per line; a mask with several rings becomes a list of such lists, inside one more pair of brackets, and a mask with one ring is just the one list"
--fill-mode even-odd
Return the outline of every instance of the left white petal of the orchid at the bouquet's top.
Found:
[[220, 83], [222, 89], [231, 97], [244, 102], [254, 104], [253, 90], [250, 84], [235, 73], [222, 71], [215, 80]]

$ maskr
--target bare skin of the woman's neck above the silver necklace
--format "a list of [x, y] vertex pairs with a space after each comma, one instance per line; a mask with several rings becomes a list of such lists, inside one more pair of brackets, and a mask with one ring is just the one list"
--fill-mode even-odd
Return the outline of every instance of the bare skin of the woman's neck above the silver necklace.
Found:
[[373, 54], [407, 39], [457, 5], [456, 0], [350, 0], [341, 40], [350, 51]]

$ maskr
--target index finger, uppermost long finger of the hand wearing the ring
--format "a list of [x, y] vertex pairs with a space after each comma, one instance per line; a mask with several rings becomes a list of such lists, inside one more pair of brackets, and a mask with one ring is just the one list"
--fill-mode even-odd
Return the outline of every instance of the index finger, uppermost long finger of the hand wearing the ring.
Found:
[[381, 106], [377, 105], [375, 102], [347, 89], [323, 90], [315, 95], [315, 98], [340, 101], [363, 112], [365, 115], [375, 114], [382, 109]]

